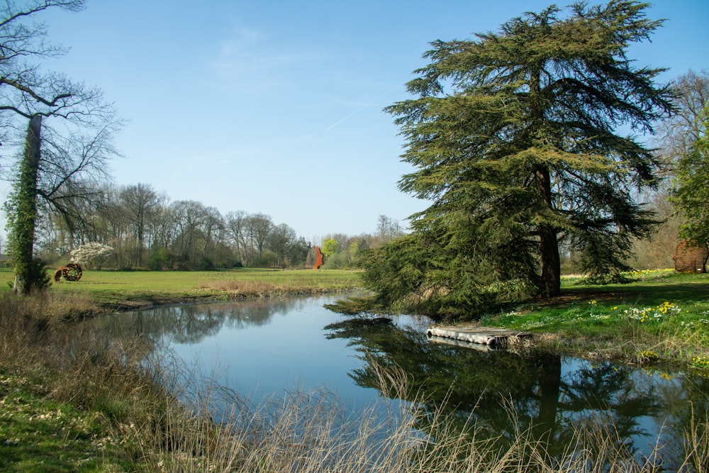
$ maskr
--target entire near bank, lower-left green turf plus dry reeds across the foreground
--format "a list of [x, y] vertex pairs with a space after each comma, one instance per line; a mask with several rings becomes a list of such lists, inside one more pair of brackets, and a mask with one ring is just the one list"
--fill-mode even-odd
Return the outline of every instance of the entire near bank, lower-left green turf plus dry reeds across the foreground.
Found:
[[[601, 417], [566, 429], [567, 450], [557, 445], [547, 452], [547, 441], [558, 439], [547, 439], [535, 425], [500, 446], [475, 416], [461, 430], [464, 419], [449, 418], [444, 406], [432, 411], [425, 399], [406, 395], [416, 391], [410, 374], [396, 364], [383, 368], [374, 358], [368, 363], [376, 388], [395, 398], [381, 397], [384, 410], [349, 418], [326, 390], [253, 405], [239, 393], [205, 384], [169, 354], [150, 355], [150, 340], [130, 338], [131, 330], [109, 334], [93, 323], [57, 317], [82, 304], [80, 296], [0, 296], [1, 471], [570, 473], [612, 465], [616, 472], [638, 472], [654, 471], [658, 459], [672, 455], [686, 461], [681, 471], [697, 472], [709, 460], [701, 406], [696, 423], [678, 430], [687, 448], [679, 460], [660, 444], [657, 455], [634, 456]], [[518, 416], [512, 404], [508, 408], [510, 418]], [[214, 423], [214, 409], [227, 418]], [[430, 438], [422, 436], [422, 426]]]

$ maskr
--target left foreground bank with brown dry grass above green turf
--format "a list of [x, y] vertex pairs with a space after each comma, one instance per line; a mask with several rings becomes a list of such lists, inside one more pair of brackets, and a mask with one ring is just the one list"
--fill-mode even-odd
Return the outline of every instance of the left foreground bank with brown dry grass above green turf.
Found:
[[81, 295], [0, 294], [1, 471], [133, 468], [123, 426], [155, 423], [164, 396], [138, 365], [146, 347], [65, 322], [92, 305]]

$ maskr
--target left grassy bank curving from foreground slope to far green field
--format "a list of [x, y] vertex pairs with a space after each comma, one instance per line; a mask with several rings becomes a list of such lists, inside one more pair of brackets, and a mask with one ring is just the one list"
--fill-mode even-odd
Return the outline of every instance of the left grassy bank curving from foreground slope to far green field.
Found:
[[336, 270], [89, 270], [79, 282], [53, 283], [47, 294], [22, 298], [9, 290], [12, 277], [0, 268], [3, 472], [189, 472], [214, 464], [199, 451], [218, 441], [216, 426], [177, 400], [182, 367], [146, 367], [143, 340], [77, 333], [74, 321], [150, 306], [357, 288], [355, 272]]

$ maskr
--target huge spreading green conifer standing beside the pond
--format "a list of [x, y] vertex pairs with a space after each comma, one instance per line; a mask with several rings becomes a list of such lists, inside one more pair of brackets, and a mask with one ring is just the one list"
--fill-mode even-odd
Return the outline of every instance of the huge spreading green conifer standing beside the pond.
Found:
[[659, 162], [637, 135], [671, 112], [660, 68], [632, 43], [661, 21], [647, 4], [550, 6], [472, 40], [437, 40], [391, 113], [414, 167], [402, 191], [430, 206], [412, 232], [370, 252], [380, 307], [462, 315], [560, 292], [560, 251], [591, 280], [622, 279], [633, 238], [654, 224], [633, 196]]

